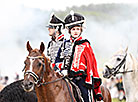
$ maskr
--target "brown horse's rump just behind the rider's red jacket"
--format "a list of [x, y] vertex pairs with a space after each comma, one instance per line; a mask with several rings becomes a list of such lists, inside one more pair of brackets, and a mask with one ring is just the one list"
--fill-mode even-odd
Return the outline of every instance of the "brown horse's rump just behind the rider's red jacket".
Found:
[[107, 87], [101, 85], [101, 92], [103, 95], [103, 101], [104, 102], [112, 102], [110, 91]]

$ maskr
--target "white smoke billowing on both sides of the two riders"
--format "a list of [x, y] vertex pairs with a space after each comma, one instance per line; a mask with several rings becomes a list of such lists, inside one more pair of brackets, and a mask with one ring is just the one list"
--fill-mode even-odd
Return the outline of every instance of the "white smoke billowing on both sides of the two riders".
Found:
[[[14, 2], [15, 1], [15, 2]], [[124, 12], [127, 12], [126, 9]], [[50, 37], [45, 28], [51, 11], [24, 6], [18, 0], [0, 1], [0, 75], [15, 77], [15, 72], [23, 77], [22, 69], [28, 52], [26, 42], [30, 41], [33, 48], [39, 48], [44, 41], [47, 46]], [[96, 54], [98, 66], [102, 67], [120, 46], [128, 45], [136, 55], [138, 53], [138, 15], [132, 12], [115, 23], [100, 22], [87, 18], [86, 38], [91, 42]]]

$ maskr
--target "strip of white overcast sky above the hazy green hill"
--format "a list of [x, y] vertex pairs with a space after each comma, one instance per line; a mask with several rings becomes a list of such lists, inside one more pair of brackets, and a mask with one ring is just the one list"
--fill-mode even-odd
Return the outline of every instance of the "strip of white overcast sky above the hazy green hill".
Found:
[[23, 4], [24, 6], [31, 8], [40, 8], [43, 10], [65, 10], [66, 7], [73, 5], [88, 5], [101, 4], [101, 3], [138, 3], [138, 0], [0, 0], [0, 6], [7, 5], [18, 5]]

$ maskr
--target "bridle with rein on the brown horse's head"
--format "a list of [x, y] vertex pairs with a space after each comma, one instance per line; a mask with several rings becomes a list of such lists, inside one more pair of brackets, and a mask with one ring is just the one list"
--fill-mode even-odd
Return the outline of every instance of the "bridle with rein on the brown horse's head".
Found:
[[[42, 71], [42, 74], [41, 74], [40, 78], [39, 78], [39, 76], [38, 76], [37, 74], [35, 74], [32, 70], [27, 70], [27, 71], [24, 72], [24, 76], [30, 74], [30, 75], [33, 77], [33, 79], [34, 79], [35, 84], [37, 85], [37, 87], [39, 87], [39, 86], [41, 86], [41, 85], [47, 85], [47, 84], [51, 84], [51, 83], [60, 81], [60, 80], [62, 80], [63, 78], [66, 77], [66, 76], [63, 76], [63, 77], [61, 77], [61, 78], [58, 78], [58, 79], [56, 79], [56, 80], [54, 80], [54, 81], [50, 81], [50, 82], [42, 82], [42, 79], [43, 79], [43, 77], [44, 77], [44, 72], [46, 71], [46, 67], [45, 67], [45, 63], [44, 63], [44, 57], [43, 57], [43, 56], [36, 56], [36, 57], [27, 56], [27, 58], [28, 58], [28, 59], [32, 59], [32, 60], [34, 60], [34, 59], [40, 59], [40, 60], [42, 60], [42, 62], [43, 62], [43, 64], [42, 64], [42, 66], [43, 66], [43, 71]], [[25, 70], [25, 68], [23, 69], [23, 71], [24, 71], [24, 70]]]

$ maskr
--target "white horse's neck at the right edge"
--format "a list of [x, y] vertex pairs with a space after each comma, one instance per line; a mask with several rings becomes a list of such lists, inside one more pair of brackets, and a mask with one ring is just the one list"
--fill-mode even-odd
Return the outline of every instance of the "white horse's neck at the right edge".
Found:
[[125, 70], [133, 71], [123, 74], [124, 88], [130, 102], [131, 99], [129, 97], [132, 97], [132, 93], [136, 93], [136, 90], [138, 90], [138, 64], [134, 56], [130, 53], [127, 54]]

